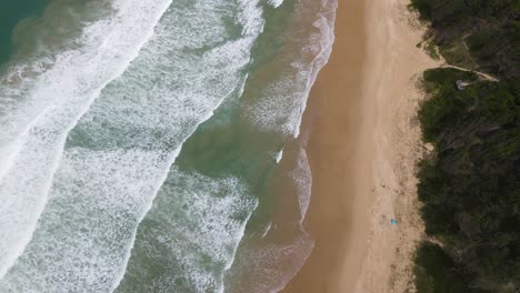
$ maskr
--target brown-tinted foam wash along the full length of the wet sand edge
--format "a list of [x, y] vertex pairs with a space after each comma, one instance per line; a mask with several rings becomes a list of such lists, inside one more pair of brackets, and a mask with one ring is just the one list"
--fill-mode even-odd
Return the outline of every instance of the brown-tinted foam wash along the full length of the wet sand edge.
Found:
[[[327, 63], [334, 40], [336, 0], [300, 0], [291, 28], [284, 36], [284, 50], [278, 53], [272, 65], [277, 77], [249, 101], [243, 118], [267, 132], [281, 132], [287, 137], [300, 135], [301, 119], [310, 89], [319, 70]], [[309, 22], [311, 21], [311, 22]], [[309, 32], [310, 31], [310, 32]], [[268, 69], [271, 72], [271, 69]], [[306, 150], [300, 145], [294, 169], [290, 172], [300, 209], [299, 223], [279, 223], [272, 233], [296, 235], [291, 241], [277, 238], [253, 238], [239, 250], [237, 262], [229, 273], [229, 282], [237, 284], [230, 293], [279, 292], [302, 267], [313, 247], [313, 240], [304, 231], [312, 188], [312, 176]], [[284, 232], [283, 230], [287, 230]], [[257, 241], [261, 245], [254, 245]], [[281, 242], [281, 243], [280, 243]], [[252, 245], [248, 245], [251, 244]], [[243, 280], [247, 280], [246, 283]]]

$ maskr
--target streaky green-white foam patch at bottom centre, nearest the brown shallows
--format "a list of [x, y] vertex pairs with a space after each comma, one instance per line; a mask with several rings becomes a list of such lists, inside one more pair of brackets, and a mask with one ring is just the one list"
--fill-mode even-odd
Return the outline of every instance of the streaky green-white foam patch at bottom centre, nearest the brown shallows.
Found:
[[[128, 274], [138, 282], [123, 283], [119, 291], [223, 292], [223, 271], [256, 204], [237, 178], [172, 168], [141, 224], [146, 238], [133, 250], [140, 257], [130, 261]], [[161, 273], [148, 275], [158, 267]]]

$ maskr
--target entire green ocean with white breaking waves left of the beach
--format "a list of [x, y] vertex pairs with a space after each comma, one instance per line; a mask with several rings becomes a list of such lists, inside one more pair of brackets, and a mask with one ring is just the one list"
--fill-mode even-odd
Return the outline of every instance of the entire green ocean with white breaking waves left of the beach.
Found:
[[300, 125], [337, 3], [11, 2], [0, 292], [283, 289], [313, 246]]

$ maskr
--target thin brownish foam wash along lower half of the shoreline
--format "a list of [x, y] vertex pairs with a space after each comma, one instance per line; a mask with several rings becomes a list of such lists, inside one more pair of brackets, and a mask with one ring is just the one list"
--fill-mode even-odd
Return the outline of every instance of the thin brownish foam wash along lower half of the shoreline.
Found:
[[[263, 229], [250, 235], [239, 250], [237, 261], [227, 275], [232, 284], [227, 292], [251, 293], [280, 292], [304, 264], [313, 249], [314, 241], [306, 232], [302, 221], [311, 195], [311, 173], [303, 148], [289, 153], [293, 170], [288, 179], [293, 191], [278, 194], [291, 198], [298, 203], [300, 214], [290, 220], [269, 222]], [[259, 244], [260, 243], [260, 244]]]

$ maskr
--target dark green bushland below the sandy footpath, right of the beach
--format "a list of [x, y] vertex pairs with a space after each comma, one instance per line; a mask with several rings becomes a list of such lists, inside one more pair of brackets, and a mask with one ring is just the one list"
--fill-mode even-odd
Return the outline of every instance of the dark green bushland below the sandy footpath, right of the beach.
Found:
[[[419, 118], [436, 154], [421, 163], [418, 191], [427, 234], [443, 247], [424, 243], [419, 249], [417, 285], [430, 287], [419, 292], [517, 292], [520, 79], [478, 81], [454, 69], [433, 69], [423, 77], [429, 99]], [[459, 91], [457, 80], [470, 84]], [[450, 281], [459, 291], [447, 290], [448, 276], [466, 287], [460, 291]]]

